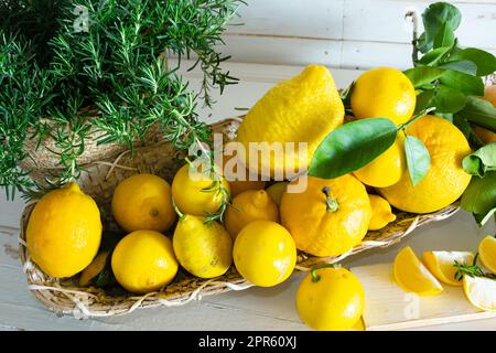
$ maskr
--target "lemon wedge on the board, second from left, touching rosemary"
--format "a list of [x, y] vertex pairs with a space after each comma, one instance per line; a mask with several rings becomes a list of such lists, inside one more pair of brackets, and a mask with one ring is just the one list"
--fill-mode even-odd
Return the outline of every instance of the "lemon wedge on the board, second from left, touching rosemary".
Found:
[[468, 252], [425, 252], [423, 253], [423, 264], [440, 281], [451, 286], [462, 286], [462, 281], [456, 280], [456, 266], [454, 263], [472, 265], [474, 254]]

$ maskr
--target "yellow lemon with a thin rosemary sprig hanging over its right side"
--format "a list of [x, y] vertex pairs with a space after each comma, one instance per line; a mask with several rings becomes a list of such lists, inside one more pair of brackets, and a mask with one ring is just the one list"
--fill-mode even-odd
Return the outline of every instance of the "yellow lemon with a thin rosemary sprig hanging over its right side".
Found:
[[220, 180], [213, 178], [190, 168], [187, 163], [181, 167], [172, 181], [172, 197], [182, 213], [205, 216], [216, 212], [226, 202], [226, 195], [218, 192], [219, 185], [215, 183], [222, 183], [230, 192], [229, 183], [223, 176], [218, 176]]

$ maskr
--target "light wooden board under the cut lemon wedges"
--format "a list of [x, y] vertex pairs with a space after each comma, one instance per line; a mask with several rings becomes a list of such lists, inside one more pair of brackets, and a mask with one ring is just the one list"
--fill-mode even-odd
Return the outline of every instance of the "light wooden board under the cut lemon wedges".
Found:
[[434, 297], [407, 293], [392, 279], [392, 264], [351, 269], [365, 290], [364, 323], [367, 330], [400, 330], [432, 324], [496, 318], [496, 312], [472, 306], [462, 287], [445, 286]]

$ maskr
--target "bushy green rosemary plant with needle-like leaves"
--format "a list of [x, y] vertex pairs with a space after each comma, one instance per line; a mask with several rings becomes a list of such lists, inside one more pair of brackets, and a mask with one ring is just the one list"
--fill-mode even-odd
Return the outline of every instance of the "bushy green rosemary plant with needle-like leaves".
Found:
[[[9, 196], [40, 191], [19, 168], [30, 158], [29, 139], [55, 141], [61, 172], [47, 175], [55, 186], [82, 172], [77, 158], [89, 133], [132, 150], [159, 126], [177, 149], [211, 143], [195, 107], [237, 82], [216, 46], [241, 3], [0, 0], [0, 186]], [[203, 71], [200, 92], [177, 74], [184, 57]]]

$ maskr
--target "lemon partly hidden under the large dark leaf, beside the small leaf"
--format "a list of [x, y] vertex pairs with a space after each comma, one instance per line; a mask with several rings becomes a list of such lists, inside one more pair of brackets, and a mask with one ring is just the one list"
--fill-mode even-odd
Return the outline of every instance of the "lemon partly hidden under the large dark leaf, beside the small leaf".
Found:
[[386, 188], [396, 184], [406, 168], [405, 138], [400, 135], [386, 152], [353, 174], [366, 185]]

